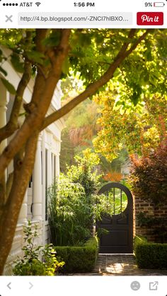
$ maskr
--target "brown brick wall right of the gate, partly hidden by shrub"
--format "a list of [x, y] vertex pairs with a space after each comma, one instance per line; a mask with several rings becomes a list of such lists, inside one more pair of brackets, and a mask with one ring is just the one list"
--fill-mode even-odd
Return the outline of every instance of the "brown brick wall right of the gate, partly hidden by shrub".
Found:
[[143, 235], [148, 241], [157, 242], [159, 239], [151, 227], [141, 227], [137, 221], [137, 214], [145, 213], [154, 218], [165, 218], [167, 225], [167, 201], [161, 207], [155, 206], [154, 203], [144, 201], [137, 196], [134, 196], [134, 235]]

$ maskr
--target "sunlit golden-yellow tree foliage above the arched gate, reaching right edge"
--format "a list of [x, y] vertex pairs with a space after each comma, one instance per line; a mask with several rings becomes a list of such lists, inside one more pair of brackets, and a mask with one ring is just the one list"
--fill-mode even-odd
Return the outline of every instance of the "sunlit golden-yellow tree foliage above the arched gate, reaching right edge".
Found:
[[120, 150], [127, 149], [129, 154], [149, 153], [166, 136], [167, 96], [151, 95], [144, 97], [137, 106], [110, 95], [110, 90], [96, 96], [103, 109], [98, 119], [101, 129], [93, 140], [96, 152], [108, 160], [113, 160]]

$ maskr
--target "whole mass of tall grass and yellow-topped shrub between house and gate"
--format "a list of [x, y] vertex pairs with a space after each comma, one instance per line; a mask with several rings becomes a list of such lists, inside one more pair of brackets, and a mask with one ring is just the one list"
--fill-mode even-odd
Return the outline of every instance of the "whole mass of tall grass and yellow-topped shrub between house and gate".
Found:
[[[61, 174], [47, 192], [51, 242], [57, 246], [81, 245], [91, 236], [93, 220], [100, 218], [103, 199], [97, 196], [98, 160], [88, 153]], [[97, 202], [98, 201], [98, 202]]]

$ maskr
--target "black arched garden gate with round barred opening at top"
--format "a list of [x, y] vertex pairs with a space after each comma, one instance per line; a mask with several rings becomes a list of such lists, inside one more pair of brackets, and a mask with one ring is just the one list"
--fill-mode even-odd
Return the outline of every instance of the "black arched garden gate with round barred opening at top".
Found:
[[[107, 204], [112, 203], [112, 215], [103, 215], [97, 221], [100, 230], [100, 253], [129, 254], [133, 252], [133, 199], [127, 187], [120, 183], [105, 184], [98, 194], [105, 194]], [[107, 234], [104, 233], [108, 230]]]

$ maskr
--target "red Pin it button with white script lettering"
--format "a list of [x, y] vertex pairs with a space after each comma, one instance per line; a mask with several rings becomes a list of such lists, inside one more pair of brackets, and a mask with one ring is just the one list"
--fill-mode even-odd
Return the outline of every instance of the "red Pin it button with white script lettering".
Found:
[[138, 12], [137, 25], [163, 25], [163, 12]]

